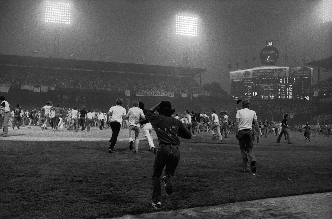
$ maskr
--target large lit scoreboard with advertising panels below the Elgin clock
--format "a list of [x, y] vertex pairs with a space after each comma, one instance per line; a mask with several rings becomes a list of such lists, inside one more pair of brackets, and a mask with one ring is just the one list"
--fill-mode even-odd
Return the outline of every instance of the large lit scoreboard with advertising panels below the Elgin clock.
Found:
[[304, 92], [311, 88], [313, 68], [263, 66], [230, 71], [234, 99], [309, 100]]

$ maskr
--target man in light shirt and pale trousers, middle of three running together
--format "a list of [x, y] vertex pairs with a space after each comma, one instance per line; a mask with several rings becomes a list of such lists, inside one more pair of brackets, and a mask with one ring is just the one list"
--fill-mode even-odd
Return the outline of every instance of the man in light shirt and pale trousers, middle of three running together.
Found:
[[139, 131], [140, 122], [145, 120], [145, 115], [143, 110], [138, 108], [139, 102], [134, 100], [132, 102], [132, 108], [128, 109], [128, 113], [125, 118], [128, 119], [128, 131], [129, 131], [129, 149], [132, 150], [132, 144], [134, 143], [135, 136], [135, 153], [138, 153], [138, 143], [139, 143]]

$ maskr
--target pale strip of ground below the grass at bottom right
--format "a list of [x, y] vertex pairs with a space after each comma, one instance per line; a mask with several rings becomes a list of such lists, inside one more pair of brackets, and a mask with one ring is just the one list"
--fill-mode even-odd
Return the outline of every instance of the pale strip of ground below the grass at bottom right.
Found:
[[[151, 206], [152, 208], [152, 206]], [[156, 210], [155, 213], [124, 215], [118, 219], [135, 218], [292, 218], [331, 219], [332, 192], [300, 196], [266, 198], [210, 207], [180, 209], [175, 211]]]

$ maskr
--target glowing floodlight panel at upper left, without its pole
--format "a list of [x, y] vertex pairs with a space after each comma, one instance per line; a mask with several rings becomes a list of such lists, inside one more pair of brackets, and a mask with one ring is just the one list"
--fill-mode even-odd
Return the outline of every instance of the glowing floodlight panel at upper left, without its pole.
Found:
[[71, 3], [46, 1], [45, 22], [70, 24]]

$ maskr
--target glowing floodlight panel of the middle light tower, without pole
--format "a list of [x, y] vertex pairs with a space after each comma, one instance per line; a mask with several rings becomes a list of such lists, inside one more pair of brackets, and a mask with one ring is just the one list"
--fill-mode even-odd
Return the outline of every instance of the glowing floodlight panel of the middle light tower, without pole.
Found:
[[176, 16], [175, 34], [197, 36], [198, 18], [189, 16]]

